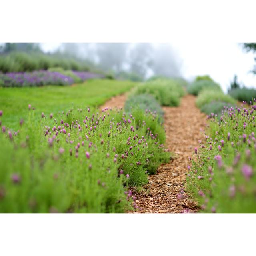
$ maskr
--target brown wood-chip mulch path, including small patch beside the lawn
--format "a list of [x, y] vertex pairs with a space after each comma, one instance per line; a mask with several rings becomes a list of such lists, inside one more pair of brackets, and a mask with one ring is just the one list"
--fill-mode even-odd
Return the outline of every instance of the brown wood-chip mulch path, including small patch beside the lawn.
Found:
[[[104, 107], [123, 107], [125, 95], [116, 96]], [[149, 182], [140, 192], [134, 192], [138, 210], [134, 213], [190, 213], [200, 208], [184, 192], [185, 173], [188, 170], [189, 156], [204, 140], [203, 129], [206, 116], [195, 105], [196, 97], [186, 95], [178, 107], [164, 107], [166, 146], [174, 156], [170, 163], [158, 168], [158, 174], [150, 175]]]

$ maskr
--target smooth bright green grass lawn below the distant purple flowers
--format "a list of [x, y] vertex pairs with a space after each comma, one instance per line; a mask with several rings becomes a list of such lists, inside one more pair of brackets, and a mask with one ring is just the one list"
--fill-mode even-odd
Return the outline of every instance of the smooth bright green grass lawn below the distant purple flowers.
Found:
[[36, 116], [46, 116], [74, 107], [100, 106], [112, 96], [130, 90], [136, 83], [118, 80], [88, 80], [75, 86], [42, 86], [24, 88], [0, 87], [0, 110], [2, 125], [17, 128], [19, 121], [26, 121], [28, 104], [36, 108]]

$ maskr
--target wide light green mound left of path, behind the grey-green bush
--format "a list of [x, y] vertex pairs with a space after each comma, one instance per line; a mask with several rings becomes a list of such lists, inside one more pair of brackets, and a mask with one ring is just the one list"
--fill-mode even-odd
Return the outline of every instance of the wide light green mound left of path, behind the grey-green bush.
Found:
[[162, 106], [178, 106], [184, 96], [183, 87], [172, 79], [156, 79], [138, 85], [133, 94], [151, 94]]

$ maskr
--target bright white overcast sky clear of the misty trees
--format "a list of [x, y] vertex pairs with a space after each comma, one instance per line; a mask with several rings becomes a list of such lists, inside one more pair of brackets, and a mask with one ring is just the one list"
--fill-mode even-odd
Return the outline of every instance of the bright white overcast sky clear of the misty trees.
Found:
[[[60, 43], [42, 44], [45, 51], [54, 51], [59, 46]], [[171, 46], [182, 60], [181, 73], [188, 80], [209, 74], [226, 92], [234, 74], [237, 74], [238, 82], [256, 88], [256, 76], [249, 73], [255, 64], [254, 54], [246, 53], [237, 43], [198, 43], [190, 40]]]

